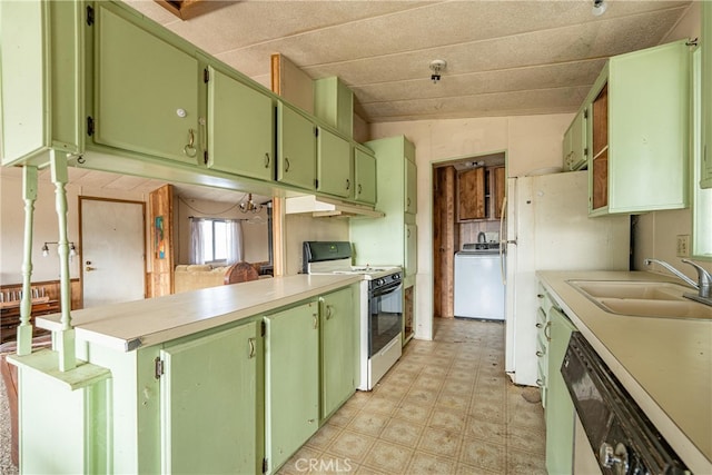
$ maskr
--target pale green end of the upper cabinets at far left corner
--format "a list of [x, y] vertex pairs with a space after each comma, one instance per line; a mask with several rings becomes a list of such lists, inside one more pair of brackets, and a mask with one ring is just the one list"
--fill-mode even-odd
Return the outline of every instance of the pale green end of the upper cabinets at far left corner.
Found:
[[83, 151], [86, 9], [81, 2], [0, 2], [0, 161]]

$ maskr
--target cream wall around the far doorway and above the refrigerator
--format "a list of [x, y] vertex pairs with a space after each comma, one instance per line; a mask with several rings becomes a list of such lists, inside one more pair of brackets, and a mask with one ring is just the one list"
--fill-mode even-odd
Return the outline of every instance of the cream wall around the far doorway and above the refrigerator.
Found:
[[562, 139], [572, 119], [573, 113], [557, 113], [372, 125], [372, 139], [405, 135], [415, 145], [417, 338], [431, 339], [433, 333], [433, 164], [506, 150], [507, 175], [512, 177], [561, 167]]

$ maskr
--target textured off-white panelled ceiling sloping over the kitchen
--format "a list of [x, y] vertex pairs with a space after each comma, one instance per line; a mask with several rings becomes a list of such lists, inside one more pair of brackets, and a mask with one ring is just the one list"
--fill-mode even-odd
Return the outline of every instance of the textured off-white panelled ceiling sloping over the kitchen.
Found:
[[125, 1], [266, 87], [277, 52], [338, 76], [367, 122], [574, 112], [605, 58], [661, 43], [691, 4], [614, 0], [594, 17], [590, 0], [248, 0], [182, 21]]

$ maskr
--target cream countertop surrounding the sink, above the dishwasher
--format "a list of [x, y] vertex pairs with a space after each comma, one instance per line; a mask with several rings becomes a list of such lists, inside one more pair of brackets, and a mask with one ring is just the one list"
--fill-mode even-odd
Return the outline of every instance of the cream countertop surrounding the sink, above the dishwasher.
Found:
[[542, 283], [695, 474], [712, 474], [712, 320], [610, 314], [567, 280], [655, 280], [643, 271], [538, 271]]

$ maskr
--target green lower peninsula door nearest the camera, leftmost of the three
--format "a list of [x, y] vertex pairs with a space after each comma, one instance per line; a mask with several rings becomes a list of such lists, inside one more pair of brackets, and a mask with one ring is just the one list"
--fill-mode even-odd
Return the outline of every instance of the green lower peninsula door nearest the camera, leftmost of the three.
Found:
[[160, 352], [164, 473], [258, 472], [256, 344], [253, 321]]

